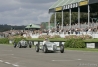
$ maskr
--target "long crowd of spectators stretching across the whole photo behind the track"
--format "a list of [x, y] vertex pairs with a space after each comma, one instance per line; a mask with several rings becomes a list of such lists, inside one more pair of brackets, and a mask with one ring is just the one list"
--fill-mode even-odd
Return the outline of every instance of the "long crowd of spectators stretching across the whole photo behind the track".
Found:
[[[92, 25], [92, 24], [91, 24]], [[23, 35], [25, 34], [26, 36], [32, 35], [42, 35], [45, 33], [46, 35], [51, 34], [95, 34], [98, 32], [98, 23], [94, 23], [93, 26], [88, 27], [87, 24], [81, 24], [81, 27], [79, 27], [78, 24], [72, 25], [71, 28], [70, 26], [64, 26], [62, 29], [59, 27], [59, 29], [39, 29], [39, 30], [10, 30], [7, 32], [0, 33], [0, 35], [3, 35], [5, 37], [11, 36], [11, 35]]]

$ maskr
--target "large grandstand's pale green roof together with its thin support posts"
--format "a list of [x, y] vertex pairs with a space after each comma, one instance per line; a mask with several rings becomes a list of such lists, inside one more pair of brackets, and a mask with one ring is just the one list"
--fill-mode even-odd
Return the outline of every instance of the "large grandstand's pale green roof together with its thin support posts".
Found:
[[55, 14], [55, 28], [56, 28], [56, 12], [62, 12], [62, 28], [63, 28], [63, 12], [70, 12], [70, 27], [71, 28], [71, 12], [78, 12], [78, 27], [80, 27], [80, 13], [88, 13], [88, 28], [90, 27], [90, 13], [98, 11], [98, 0], [57, 0], [50, 8], [49, 13]]

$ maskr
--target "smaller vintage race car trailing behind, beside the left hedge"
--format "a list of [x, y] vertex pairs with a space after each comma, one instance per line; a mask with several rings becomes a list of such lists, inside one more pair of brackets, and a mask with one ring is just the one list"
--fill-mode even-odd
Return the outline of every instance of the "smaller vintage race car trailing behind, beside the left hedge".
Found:
[[26, 40], [21, 40], [18, 43], [14, 42], [14, 48], [16, 48], [16, 47], [19, 47], [19, 48], [27, 48], [27, 47], [29, 47], [29, 48], [31, 48], [32, 43], [30, 41], [28, 42]]

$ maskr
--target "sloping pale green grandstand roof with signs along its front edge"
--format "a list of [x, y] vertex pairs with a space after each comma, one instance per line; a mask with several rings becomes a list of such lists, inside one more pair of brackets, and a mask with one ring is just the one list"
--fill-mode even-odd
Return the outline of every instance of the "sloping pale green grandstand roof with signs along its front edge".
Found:
[[[91, 12], [96, 12], [98, 9], [93, 9], [98, 6], [98, 0], [57, 0], [50, 8], [49, 12], [58, 12], [62, 10], [72, 9], [77, 12], [77, 7], [81, 7], [81, 12], [87, 12], [87, 5], [90, 4]], [[74, 8], [74, 9], [73, 9]]]

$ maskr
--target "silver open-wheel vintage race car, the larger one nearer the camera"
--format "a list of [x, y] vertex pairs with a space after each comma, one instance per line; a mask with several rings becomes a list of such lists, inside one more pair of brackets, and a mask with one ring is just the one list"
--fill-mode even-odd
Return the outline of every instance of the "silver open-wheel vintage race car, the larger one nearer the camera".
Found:
[[46, 42], [45, 44], [36, 44], [35, 45], [36, 52], [39, 52], [39, 50], [42, 50], [44, 53], [47, 52], [56, 52], [60, 51], [61, 53], [64, 53], [64, 45], [60, 44], [57, 46], [54, 42]]

